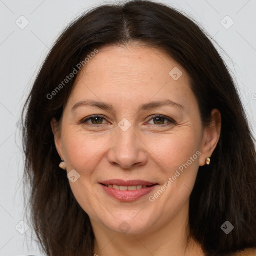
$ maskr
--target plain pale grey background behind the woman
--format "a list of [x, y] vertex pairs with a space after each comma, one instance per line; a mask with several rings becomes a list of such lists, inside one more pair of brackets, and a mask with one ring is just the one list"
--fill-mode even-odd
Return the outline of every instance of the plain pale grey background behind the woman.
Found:
[[[160, 2], [184, 11], [214, 37], [237, 82], [255, 134], [256, 0]], [[23, 156], [18, 128], [21, 108], [45, 54], [61, 30], [84, 10], [103, 3], [103, 0], [0, 0], [0, 256], [43, 255], [35, 242], [30, 243], [31, 228], [28, 226], [22, 234], [26, 229], [20, 222], [24, 221], [20, 182]], [[29, 24], [23, 28], [26, 22]]]

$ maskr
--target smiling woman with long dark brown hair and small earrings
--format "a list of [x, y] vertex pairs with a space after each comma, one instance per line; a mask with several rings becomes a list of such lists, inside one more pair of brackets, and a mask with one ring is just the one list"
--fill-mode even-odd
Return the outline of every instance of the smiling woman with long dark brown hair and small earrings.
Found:
[[23, 110], [47, 255], [256, 255], [255, 147], [202, 30], [150, 1], [70, 24]]

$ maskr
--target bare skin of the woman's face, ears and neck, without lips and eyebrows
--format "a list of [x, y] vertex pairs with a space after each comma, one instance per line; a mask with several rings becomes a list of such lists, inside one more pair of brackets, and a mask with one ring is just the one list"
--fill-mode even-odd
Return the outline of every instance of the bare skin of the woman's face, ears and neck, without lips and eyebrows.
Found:
[[[182, 71], [177, 80], [169, 75], [174, 67]], [[92, 106], [72, 110], [82, 100], [112, 104], [114, 111]], [[139, 110], [140, 105], [158, 100], [172, 100], [183, 107]], [[94, 114], [104, 118], [97, 120], [100, 125], [95, 119], [80, 123]], [[154, 114], [176, 123], [153, 119]], [[126, 131], [118, 126], [123, 118], [131, 124]], [[78, 73], [62, 118], [59, 123], [53, 118], [51, 127], [67, 173], [74, 169], [80, 175], [69, 183], [91, 220], [95, 253], [204, 255], [198, 244], [187, 239], [189, 197], [198, 167], [205, 165], [216, 147], [221, 117], [213, 109], [211, 125], [203, 126], [189, 77], [177, 62], [142, 44], [100, 48]], [[196, 152], [200, 155], [189, 167], [149, 201]], [[124, 202], [107, 195], [98, 183], [108, 179], [141, 179], [159, 185], [136, 201]], [[128, 223], [127, 233], [119, 229], [123, 221]]]

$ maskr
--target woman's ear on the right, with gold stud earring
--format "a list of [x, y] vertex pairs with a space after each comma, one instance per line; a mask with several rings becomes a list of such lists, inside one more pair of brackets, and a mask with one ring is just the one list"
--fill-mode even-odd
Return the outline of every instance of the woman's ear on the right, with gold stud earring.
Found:
[[206, 158], [210, 157], [217, 146], [221, 132], [221, 114], [218, 109], [211, 111], [211, 123], [204, 127], [201, 145], [199, 165], [206, 164]]

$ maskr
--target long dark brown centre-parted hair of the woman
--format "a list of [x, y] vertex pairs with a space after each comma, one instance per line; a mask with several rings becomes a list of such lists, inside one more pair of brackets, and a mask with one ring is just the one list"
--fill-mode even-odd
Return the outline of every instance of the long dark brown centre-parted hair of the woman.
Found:
[[[234, 82], [205, 32], [179, 11], [151, 1], [105, 4], [72, 22], [57, 39], [35, 79], [23, 109], [24, 182], [29, 184], [31, 222], [49, 256], [92, 255], [89, 217], [74, 198], [50, 127], [60, 119], [76, 75], [54, 93], [95, 48], [141, 42], [164, 50], [187, 71], [201, 119], [222, 116], [221, 134], [209, 166], [199, 167], [190, 197], [191, 237], [207, 255], [231, 255], [256, 247], [254, 141]], [[220, 226], [228, 220], [227, 235]]]

